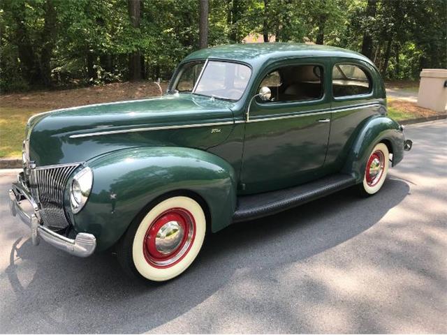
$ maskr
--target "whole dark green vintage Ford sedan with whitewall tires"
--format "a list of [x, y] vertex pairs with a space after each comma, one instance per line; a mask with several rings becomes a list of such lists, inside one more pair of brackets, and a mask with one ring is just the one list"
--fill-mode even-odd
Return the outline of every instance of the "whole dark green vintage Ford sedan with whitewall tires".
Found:
[[163, 96], [31, 117], [10, 209], [34, 244], [80, 257], [114, 247], [130, 274], [166, 281], [205, 232], [350, 186], [378, 192], [411, 148], [386, 114], [381, 76], [355, 52], [199, 50]]

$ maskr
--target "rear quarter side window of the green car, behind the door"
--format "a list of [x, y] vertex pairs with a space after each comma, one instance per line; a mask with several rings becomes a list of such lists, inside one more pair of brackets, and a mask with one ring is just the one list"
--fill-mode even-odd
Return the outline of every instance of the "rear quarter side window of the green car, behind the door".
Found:
[[332, 68], [332, 93], [335, 98], [368, 94], [371, 91], [371, 80], [362, 68], [351, 64], [335, 64]]

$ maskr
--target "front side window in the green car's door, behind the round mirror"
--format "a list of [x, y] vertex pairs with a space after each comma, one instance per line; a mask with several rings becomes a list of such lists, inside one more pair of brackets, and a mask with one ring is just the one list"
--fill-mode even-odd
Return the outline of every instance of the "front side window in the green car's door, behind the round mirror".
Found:
[[316, 65], [284, 66], [270, 72], [261, 81], [261, 87], [272, 91], [271, 101], [309, 101], [323, 96], [323, 68]]

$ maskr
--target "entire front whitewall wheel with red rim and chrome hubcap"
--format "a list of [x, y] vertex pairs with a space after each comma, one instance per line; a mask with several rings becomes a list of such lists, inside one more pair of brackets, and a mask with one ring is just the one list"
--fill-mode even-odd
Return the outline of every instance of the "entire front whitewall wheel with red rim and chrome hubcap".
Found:
[[196, 259], [205, 232], [205, 213], [196, 200], [168, 198], [135, 218], [119, 243], [117, 257], [127, 272], [168, 281]]

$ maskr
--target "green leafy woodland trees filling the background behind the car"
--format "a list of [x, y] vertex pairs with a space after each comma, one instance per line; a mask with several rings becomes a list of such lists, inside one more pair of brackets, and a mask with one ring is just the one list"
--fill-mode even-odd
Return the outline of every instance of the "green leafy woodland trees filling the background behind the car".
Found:
[[[143, 77], [168, 79], [198, 48], [198, 0], [142, 0], [139, 27], [128, 1], [0, 1], [1, 91], [127, 80], [135, 52]], [[208, 41], [268, 34], [358, 52], [369, 43], [384, 76], [417, 79], [447, 67], [446, 27], [444, 0], [210, 0]]]

